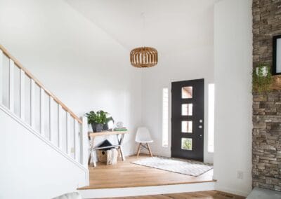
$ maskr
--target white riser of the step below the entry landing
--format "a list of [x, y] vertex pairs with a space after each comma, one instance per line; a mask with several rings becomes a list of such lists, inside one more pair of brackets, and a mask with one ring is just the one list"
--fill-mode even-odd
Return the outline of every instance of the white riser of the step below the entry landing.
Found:
[[184, 193], [193, 191], [214, 190], [215, 182], [202, 182], [193, 184], [176, 184], [164, 186], [141, 186], [128, 188], [103, 188], [79, 190], [82, 198], [110, 198], [136, 195], [158, 195], [166, 193]]

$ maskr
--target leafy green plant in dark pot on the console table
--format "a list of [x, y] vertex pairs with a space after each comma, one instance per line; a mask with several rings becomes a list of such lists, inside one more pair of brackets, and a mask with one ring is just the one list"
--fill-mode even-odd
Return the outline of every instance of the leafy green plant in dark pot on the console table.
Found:
[[107, 118], [107, 112], [105, 111], [90, 111], [86, 114], [88, 118], [88, 123], [92, 125], [93, 132], [101, 132], [103, 130], [103, 125], [105, 125]]

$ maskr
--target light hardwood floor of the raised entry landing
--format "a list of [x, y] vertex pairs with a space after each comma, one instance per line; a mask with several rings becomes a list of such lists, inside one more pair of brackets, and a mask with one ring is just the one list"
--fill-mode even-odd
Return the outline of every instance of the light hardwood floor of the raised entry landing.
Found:
[[[141, 155], [139, 158], [148, 158], [148, 156]], [[137, 160], [136, 156], [126, 158], [124, 162], [119, 160], [117, 165], [98, 163], [97, 167], [89, 167], [90, 186], [79, 189], [158, 186], [214, 181], [212, 179], [213, 170], [209, 170], [199, 177], [192, 177], [185, 174], [131, 164], [134, 160]]]

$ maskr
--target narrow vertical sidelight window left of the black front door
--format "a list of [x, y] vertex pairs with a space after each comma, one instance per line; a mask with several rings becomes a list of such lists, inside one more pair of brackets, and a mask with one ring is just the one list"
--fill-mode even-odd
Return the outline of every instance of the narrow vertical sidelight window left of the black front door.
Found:
[[169, 95], [168, 88], [162, 90], [162, 146], [168, 146], [168, 123], [169, 123]]

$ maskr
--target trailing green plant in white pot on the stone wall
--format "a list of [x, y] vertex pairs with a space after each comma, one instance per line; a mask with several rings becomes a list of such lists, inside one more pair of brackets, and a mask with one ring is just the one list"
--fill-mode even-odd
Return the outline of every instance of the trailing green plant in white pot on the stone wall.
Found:
[[253, 71], [253, 92], [268, 92], [273, 83], [270, 66], [268, 64], [259, 64]]

